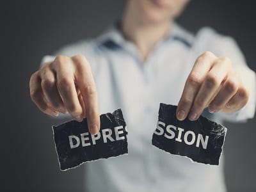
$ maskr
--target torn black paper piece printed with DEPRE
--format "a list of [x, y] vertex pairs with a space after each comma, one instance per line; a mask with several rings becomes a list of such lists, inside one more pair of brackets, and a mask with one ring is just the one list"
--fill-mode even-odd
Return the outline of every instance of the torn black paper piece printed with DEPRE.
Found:
[[128, 153], [127, 130], [121, 109], [100, 115], [100, 131], [91, 135], [87, 120], [52, 126], [60, 170], [97, 159]]

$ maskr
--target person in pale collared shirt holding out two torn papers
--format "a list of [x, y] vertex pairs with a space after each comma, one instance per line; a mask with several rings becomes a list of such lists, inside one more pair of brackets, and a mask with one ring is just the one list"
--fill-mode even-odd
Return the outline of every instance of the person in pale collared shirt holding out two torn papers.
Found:
[[225, 191], [219, 166], [192, 163], [152, 147], [159, 102], [177, 118], [253, 118], [255, 73], [230, 36], [211, 28], [193, 35], [175, 22], [189, 0], [128, 0], [120, 22], [102, 35], [45, 56], [30, 79], [31, 99], [53, 116], [88, 118], [121, 108], [129, 154], [86, 163], [86, 191]]

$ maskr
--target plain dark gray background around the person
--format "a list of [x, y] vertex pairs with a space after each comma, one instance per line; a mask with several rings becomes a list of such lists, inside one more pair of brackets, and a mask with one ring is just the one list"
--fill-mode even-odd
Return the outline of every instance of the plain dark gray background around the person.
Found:
[[[254, 1], [193, 0], [180, 24], [195, 32], [212, 26], [234, 36], [255, 67]], [[29, 77], [44, 54], [96, 36], [120, 18], [125, 1], [1, 1], [2, 191], [82, 191], [83, 166], [60, 172], [52, 124], [29, 98]], [[255, 122], [228, 124], [225, 179], [228, 191], [256, 191]]]

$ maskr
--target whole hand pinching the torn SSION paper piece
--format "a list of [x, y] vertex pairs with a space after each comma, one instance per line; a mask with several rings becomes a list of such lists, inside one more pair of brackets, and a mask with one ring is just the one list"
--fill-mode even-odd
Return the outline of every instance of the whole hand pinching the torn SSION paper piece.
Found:
[[210, 113], [233, 113], [243, 108], [249, 93], [228, 58], [217, 58], [212, 52], [199, 56], [186, 81], [176, 116], [197, 120], [208, 107]]

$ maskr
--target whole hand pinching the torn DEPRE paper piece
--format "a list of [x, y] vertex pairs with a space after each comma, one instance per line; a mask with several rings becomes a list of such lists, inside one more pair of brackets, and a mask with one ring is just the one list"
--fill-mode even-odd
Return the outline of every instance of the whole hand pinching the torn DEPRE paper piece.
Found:
[[97, 89], [83, 55], [57, 56], [45, 63], [31, 76], [29, 88], [31, 99], [42, 112], [53, 116], [68, 112], [79, 122], [86, 117], [90, 133], [99, 132]]

